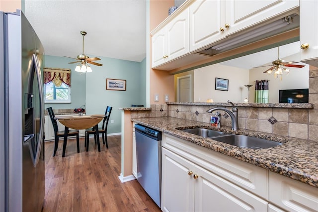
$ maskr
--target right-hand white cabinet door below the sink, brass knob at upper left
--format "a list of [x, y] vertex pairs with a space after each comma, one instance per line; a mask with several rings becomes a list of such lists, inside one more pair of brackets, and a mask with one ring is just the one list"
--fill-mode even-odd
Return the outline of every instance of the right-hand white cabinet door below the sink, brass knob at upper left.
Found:
[[267, 212], [268, 202], [199, 166], [194, 174], [196, 212]]

